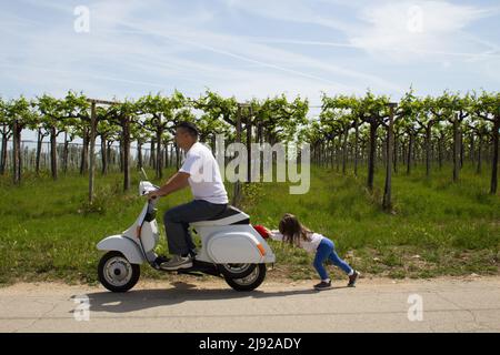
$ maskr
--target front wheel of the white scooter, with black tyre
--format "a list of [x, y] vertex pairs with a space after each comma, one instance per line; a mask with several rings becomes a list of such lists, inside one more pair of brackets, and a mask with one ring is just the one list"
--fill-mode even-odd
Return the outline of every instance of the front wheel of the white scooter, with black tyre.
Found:
[[106, 253], [98, 266], [99, 281], [112, 292], [127, 292], [139, 281], [141, 268], [131, 264], [120, 252]]

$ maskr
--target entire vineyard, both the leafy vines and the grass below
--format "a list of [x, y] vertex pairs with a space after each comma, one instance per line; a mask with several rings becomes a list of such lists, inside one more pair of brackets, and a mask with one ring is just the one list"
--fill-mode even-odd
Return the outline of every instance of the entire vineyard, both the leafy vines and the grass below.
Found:
[[[311, 109], [319, 109], [319, 114], [312, 115]], [[200, 140], [214, 153], [218, 134], [223, 134], [227, 144], [246, 144], [249, 158], [253, 142], [309, 144], [311, 190], [307, 195], [288, 195], [288, 183], [227, 183], [232, 203], [256, 222], [276, 226], [282, 213], [297, 212], [327, 235], [336, 231], [340, 251], [361, 255], [358, 264], [369, 272], [380, 271], [372, 261], [382, 260], [397, 268], [393, 274], [408, 275], [403, 267], [408, 250], [398, 254], [400, 250], [393, 248], [404, 245], [412, 255], [427, 251], [429, 256], [436, 247], [429, 261], [438, 266], [452, 264], [459, 273], [498, 272], [499, 93], [446, 91], [418, 97], [409, 90], [394, 102], [368, 91], [363, 97], [323, 95], [321, 105], [314, 106], [307, 99], [284, 95], [243, 103], [211, 91], [198, 99], [174, 92], [119, 102], [70, 91], [61, 99], [44, 94], [0, 100], [1, 216], [6, 222], [0, 281], [10, 280], [6, 276], [12, 268], [9, 260], [19, 264], [38, 250], [48, 260], [33, 261], [33, 273], [57, 273], [61, 265], [72, 265], [74, 274], [93, 280], [94, 241], [127, 224], [141, 203], [131, 189], [139, 179], [137, 170], [144, 168], [161, 183], [179, 168], [182, 153], [173, 133], [181, 121], [194, 122]], [[34, 132], [34, 141], [23, 139], [28, 131]], [[226, 164], [230, 158], [226, 156]], [[250, 159], [248, 181], [253, 181], [251, 163]], [[263, 168], [259, 168], [261, 174]], [[69, 201], [64, 206], [69, 212], [58, 205], [59, 197], [54, 200], [53, 190], [59, 187], [63, 192], [58, 195]], [[24, 202], [31, 189], [40, 190], [34, 193], [40, 200]], [[21, 211], [10, 211], [8, 196]], [[107, 201], [109, 196], [127, 206]], [[183, 192], [160, 209], [187, 199], [189, 193]], [[41, 205], [44, 202], [47, 206]], [[34, 219], [27, 227], [22, 214]], [[62, 215], [61, 223], [78, 225], [91, 237], [70, 236], [71, 229], [52, 217], [43, 223], [37, 220], [51, 215]], [[460, 223], [467, 225], [458, 227]], [[73, 260], [71, 250], [84, 257]], [[476, 264], [463, 267], [450, 262], [471, 250]], [[300, 252], [278, 251], [278, 256], [283, 265], [307, 264]], [[417, 275], [429, 275], [419, 267]], [[451, 268], [437, 267], [434, 274]], [[293, 275], [308, 274], [299, 267]]]

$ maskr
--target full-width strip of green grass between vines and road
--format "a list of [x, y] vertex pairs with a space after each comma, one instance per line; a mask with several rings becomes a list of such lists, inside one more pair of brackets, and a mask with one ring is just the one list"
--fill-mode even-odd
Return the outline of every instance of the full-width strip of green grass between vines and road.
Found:
[[[101, 255], [96, 243], [133, 223], [144, 201], [137, 196], [139, 175], [132, 175], [131, 191], [123, 194], [120, 174], [97, 173], [92, 205], [87, 202], [86, 176], [62, 175], [53, 182], [49, 175], [37, 179], [28, 173], [21, 186], [0, 176], [0, 283], [96, 283]], [[498, 274], [500, 197], [488, 194], [488, 172], [476, 175], [464, 166], [459, 183], [450, 180], [450, 166], [432, 171], [430, 180], [422, 169], [410, 176], [396, 174], [393, 211], [387, 213], [380, 207], [381, 169], [376, 189], [369, 192], [362, 170], [354, 178], [313, 166], [308, 194], [290, 195], [288, 183], [256, 183], [244, 189], [243, 209], [253, 224], [269, 227], [277, 227], [284, 212], [298, 215], [311, 230], [332, 239], [339, 254], [364, 273], [391, 277]], [[184, 190], [162, 199], [158, 207], [163, 212], [189, 200], [190, 192]], [[159, 247], [164, 252], [163, 227], [161, 235]], [[317, 277], [306, 252], [271, 244], [277, 264], [270, 275]], [[337, 268], [330, 270], [341, 277]], [[149, 267], [142, 271], [146, 277], [171, 277]]]

